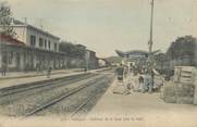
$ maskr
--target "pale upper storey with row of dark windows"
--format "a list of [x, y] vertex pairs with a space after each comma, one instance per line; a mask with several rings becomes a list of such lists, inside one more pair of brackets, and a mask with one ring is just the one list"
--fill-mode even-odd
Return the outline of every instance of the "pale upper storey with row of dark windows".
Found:
[[12, 26], [16, 39], [23, 41], [26, 46], [54, 52], [59, 51], [59, 37], [16, 20], [13, 21]]

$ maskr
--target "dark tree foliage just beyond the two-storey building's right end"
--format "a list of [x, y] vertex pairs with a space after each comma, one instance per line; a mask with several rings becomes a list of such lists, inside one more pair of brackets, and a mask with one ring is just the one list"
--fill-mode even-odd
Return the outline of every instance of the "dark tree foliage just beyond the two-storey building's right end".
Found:
[[66, 53], [69, 56], [83, 59], [86, 53], [86, 47], [62, 41], [60, 43], [60, 51]]

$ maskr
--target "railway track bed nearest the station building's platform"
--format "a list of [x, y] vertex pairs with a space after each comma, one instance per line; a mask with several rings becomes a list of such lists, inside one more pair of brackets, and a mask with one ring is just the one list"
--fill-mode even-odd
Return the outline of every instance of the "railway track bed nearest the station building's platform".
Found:
[[[64, 98], [77, 93], [109, 75], [106, 73], [84, 74], [45, 84], [22, 85], [0, 89], [0, 114], [5, 116], [32, 116]], [[37, 114], [36, 114], [37, 115]]]

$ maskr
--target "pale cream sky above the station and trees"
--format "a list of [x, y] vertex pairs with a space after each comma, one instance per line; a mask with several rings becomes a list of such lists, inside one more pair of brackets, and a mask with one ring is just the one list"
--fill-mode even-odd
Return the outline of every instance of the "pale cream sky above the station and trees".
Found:
[[[1, 0], [0, 0], [1, 1]], [[3, 0], [4, 1], [4, 0]], [[13, 16], [85, 45], [97, 56], [148, 50], [150, 0], [8, 0]], [[197, 0], [155, 0], [153, 50], [177, 37], [197, 37]]]

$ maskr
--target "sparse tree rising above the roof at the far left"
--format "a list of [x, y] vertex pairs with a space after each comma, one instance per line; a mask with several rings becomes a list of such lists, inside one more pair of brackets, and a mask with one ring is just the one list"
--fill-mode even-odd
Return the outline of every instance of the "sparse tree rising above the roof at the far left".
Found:
[[8, 2], [0, 2], [0, 33], [3, 35], [13, 36], [12, 12]]

